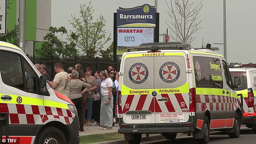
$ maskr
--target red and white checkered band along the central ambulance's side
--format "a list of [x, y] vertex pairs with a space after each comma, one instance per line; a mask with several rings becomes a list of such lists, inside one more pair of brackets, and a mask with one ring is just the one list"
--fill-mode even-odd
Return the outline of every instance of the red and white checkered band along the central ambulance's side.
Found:
[[239, 107], [238, 99], [231, 96], [196, 95], [197, 111], [231, 111]]

